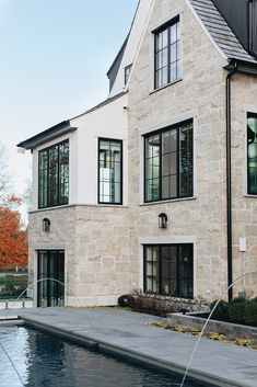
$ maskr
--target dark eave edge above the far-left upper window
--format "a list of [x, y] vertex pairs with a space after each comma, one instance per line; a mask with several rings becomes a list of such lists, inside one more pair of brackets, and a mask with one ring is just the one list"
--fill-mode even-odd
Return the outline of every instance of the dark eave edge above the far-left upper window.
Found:
[[16, 145], [17, 148], [34, 149], [39, 145], [50, 141], [57, 137], [74, 132], [77, 127], [70, 126], [70, 121], [62, 121], [61, 123], [51, 126], [50, 128], [38, 133], [37, 135], [21, 141]]

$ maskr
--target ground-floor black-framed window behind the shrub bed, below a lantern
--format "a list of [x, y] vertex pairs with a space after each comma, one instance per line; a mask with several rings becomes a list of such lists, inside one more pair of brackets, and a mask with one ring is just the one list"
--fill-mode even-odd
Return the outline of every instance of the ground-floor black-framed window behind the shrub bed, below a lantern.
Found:
[[143, 247], [144, 292], [194, 297], [192, 244]]

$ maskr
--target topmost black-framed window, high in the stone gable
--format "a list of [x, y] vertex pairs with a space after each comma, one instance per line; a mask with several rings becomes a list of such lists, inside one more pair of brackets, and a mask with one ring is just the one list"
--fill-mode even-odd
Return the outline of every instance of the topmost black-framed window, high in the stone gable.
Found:
[[180, 78], [180, 27], [174, 20], [154, 32], [155, 89]]

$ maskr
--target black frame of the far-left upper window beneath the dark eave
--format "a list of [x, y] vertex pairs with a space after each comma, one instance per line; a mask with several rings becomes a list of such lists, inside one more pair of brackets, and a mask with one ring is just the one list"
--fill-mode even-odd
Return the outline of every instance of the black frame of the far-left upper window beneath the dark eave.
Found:
[[[69, 173], [68, 173], [68, 197], [67, 197], [67, 201], [61, 201], [61, 195], [60, 195], [60, 147], [63, 146], [63, 145], [68, 145], [68, 149], [69, 149], [69, 153], [68, 153], [68, 159], [69, 159]], [[49, 163], [49, 152], [51, 150], [54, 150], [55, 148], [58, 148], [58, 172], [57, 172], [57, 203], [54, 203], [51, 202], [50, 200], [50, 183], [49, 183], [49, 171], [50, 171], [50, 163]], [[47, 153], [47, 186], [46, 186], [46, 195], [47, 195], [47, 204], [46, 205], [40, 205], [42, 203], [42, 190], [40, 190], [40, 155], [43, 152], [46, 152]], [[57, 206], [62, 206], [62, 205], [67, 205], [69, 204], [69, 194], [70, 194], [70, 141], [69, 139], [65, 139], [60, 143], [57, 143], [57, 144], [54, 144], [47, 148], [44, 148], [44, 149], [40, 149], [38, 151], [38, 195], [37, 195], [37, 201], [38, 201], [38, 208], [42, 209], [42, 208], [50, 208], [50, 207], [57, 207]]]

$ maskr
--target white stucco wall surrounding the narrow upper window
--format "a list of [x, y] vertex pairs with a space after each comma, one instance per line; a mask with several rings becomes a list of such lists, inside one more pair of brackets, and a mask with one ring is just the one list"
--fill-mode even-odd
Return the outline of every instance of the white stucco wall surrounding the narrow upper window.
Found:
[[127, 95], [125, 94], [101, 109], [71, 121], [71, 125], [78, 127], [77, 183], [73, 182], [71, 204], [97, 204], [100, 137], [122, 140], [124, 204], [127, 204]]

